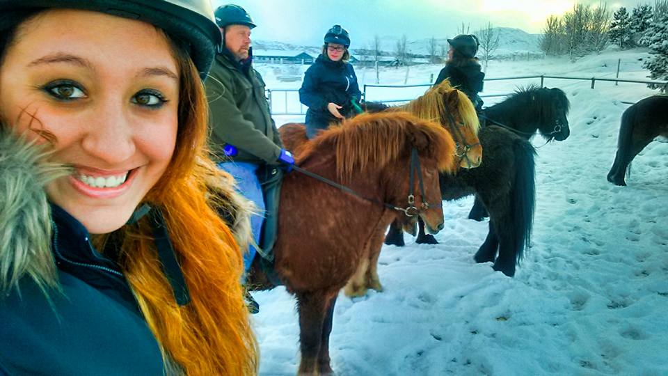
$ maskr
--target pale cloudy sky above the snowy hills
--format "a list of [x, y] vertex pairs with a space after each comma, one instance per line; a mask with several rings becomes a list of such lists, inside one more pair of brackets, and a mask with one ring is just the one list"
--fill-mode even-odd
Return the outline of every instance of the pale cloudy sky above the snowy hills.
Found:
[[[539, 33], [549, 15], [562, 15], [573, 0], [232, 0], [246, 8], [258, 25], [252, 38], [301, 45], [318, 45], [333, 24], [351, 33], [353, 47], [365, 45], [374, 34], [419, 38], [452, 37], [462, 22], [470, 32], [491, 22]], [[598, 5], [598, 0], [579, 3]], [[213, 0], [214, 7], [228, 1]], [[632, 9], [653, 0], [620, 0], [607, 7]], [[358, 45], [359, 46], [359, 45]]]

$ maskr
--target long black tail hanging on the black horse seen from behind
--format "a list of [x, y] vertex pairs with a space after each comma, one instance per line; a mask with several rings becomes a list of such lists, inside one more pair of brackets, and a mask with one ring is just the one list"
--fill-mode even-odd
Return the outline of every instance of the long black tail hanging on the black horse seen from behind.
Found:
[[515, 154], [515, 181], [511, 189], [512, 217], [515, 219], [514, 249], [517, 249], [516, 264], [524, 256], [524, 250], [531, 244], [531, 231], [536, 205], [536, 150], [525, 139], [518, 137], [513, 145]]

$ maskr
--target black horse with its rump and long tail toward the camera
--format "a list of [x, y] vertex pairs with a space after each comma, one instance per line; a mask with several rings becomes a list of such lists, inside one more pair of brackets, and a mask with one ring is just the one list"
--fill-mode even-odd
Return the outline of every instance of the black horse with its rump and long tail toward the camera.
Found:
[[[475, 169], [462, 169], [456, 175], [441, 174], [440, 192], [444, 200], [470, 194], [482, 199], [490, 213], [489, 232], [474, 258], [477, 263], [493, 261], [495, 270], [514, 276], [531, 240], [535, 150], [529, 141], [502, 127], [484, 127], [478, 137], [482, 164]], [[418, 242], [425, 242], [425, 237], [426, 242], [434, 240], [424, 234], [420, 225]], [[385, 244], [404, 245], [404, 234], [396, 222], [390, 226]]]

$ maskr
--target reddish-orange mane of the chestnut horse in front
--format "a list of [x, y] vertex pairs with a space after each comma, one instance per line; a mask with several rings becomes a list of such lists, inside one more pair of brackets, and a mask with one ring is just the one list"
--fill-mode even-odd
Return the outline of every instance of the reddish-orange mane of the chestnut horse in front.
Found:
[[[414, 145], [416, 138], [427, 145]], [[413, 146], [420, 157], [436, 159], [438, 169], [452, 171], [454, 141], [437, 123], [422, 120], [406, 112], [362, 113], [355, 118], [331, 125], [311, 142], [305, 143], [301, 160], [315, 157], [322, 146], [335, 149], [336, 173], [346, 180], [354, 171], [383, 169]]]

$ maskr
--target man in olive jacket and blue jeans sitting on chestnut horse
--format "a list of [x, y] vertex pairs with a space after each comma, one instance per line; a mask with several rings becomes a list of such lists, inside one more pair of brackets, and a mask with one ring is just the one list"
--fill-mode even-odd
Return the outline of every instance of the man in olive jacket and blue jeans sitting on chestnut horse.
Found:
[[[218, 166], [234, 176], [239, 191], [257, 205], [269, 225], [278, 209], [276, 200], [283, 175], [279, 166], [289, 171], [294, 159], [283, 149], [264, 96], [264, 81], [252, 66], [253, 20], [244, 8], [234, 4], [219, 7], [215, 15], [223, 47], [205, 82], [211, 111], [209, 147]], [[270, 249], [267, 244], [273, 241], [271, 236], [266, 240], [260, 237], [261, 215], [251, 218], [251, 227], [260, 249]], [[256, 251], [250, 246], [244, 256], [246, 271]]]

